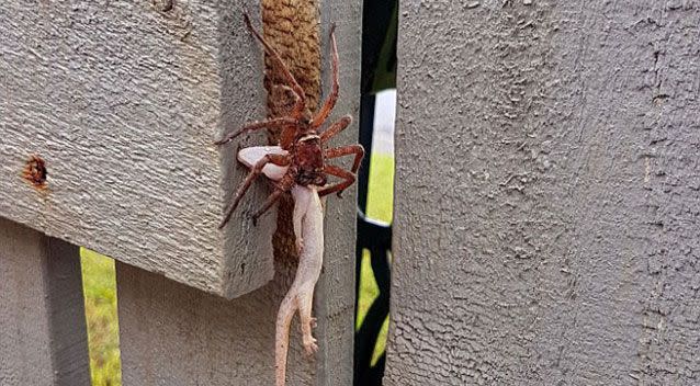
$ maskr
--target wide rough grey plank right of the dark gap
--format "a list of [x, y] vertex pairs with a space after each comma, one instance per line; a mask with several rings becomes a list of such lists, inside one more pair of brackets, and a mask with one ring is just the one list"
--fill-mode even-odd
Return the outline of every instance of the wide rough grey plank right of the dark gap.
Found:
[[700, 7], [403, 1], [385, 384], [700, 382]]

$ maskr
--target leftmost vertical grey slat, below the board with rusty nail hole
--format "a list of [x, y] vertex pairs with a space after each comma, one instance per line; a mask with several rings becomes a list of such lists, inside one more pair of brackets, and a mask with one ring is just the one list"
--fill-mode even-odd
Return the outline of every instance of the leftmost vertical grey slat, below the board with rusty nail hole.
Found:
[[0, 385], [90, 385], [78, 247], [0, 218]]

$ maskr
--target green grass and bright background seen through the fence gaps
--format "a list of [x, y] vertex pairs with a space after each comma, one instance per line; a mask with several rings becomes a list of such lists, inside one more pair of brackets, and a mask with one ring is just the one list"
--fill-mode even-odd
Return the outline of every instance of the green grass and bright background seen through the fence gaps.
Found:
[[[394, 203], [393, 186], [394, 157], [389, 155], [372, 155], [370, 189], [368, 192], [368, 216], [391, 223]], [[80, 257], [86, 296], [92, 385], [121, 386], [122, 371], [118, 349], [114, 261], [84, 248], [80, 250]], [[357, 326], [362, 322], [368, 308], [379, 294], [368, 251], [364, 251], [362, 256], [360, 286]], [[387, 330], [388, 318], [382, 327], [374, 349], [372, 364], [384, 352]]]

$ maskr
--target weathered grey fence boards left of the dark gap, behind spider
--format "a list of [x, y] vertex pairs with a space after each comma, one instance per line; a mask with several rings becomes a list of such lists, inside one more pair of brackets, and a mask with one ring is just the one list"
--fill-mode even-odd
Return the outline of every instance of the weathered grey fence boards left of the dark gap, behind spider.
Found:
[[[319, 66], [328, 72], [336, 23], [334, 116], [357, 117], [358, 1], [0, 4], [1, 385], [89, 384], [75, 246], [117, 260], [125, 385], [273, 382], [289, 235], [273, 258], [275, 215], [255, 228], [247, 217], [264, 184], [216, 228], [245, 171], [235, 146], [213, 145], [264, 117], [262, 49], [242, 23], [248, 10], [260, 25], [261, 5], [266, 35], [315, 100], [318, 79], [329, 87]], [[338, 143], [353, 138], [357, 128]], [[289, 385], [352, 382], [355, 203], [331, 198], [326, 211], [320, 351], [309, 361], [291, 344]]]

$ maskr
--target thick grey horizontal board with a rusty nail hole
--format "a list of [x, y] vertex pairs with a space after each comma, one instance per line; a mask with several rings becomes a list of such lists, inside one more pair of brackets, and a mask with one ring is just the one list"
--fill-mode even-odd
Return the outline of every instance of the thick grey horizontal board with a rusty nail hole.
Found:
[[271, 280], [264, 189], [216, 229], [245, 169], [213, 141], [264, 116], [250, 4], [2, 2], [0, 216], [226, 297]]

